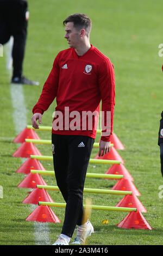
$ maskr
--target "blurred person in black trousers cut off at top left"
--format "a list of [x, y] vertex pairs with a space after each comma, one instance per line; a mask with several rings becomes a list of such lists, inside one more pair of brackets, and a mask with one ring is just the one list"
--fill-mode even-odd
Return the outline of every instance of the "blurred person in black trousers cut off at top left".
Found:
[[0, 44], [13, 36], [11, 83], [39, 85], [23, 76], [23, 59], [26, 49], [29, 19], [27, 0], [0, 0]]

